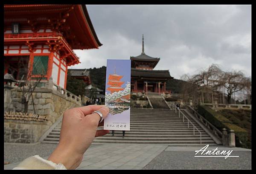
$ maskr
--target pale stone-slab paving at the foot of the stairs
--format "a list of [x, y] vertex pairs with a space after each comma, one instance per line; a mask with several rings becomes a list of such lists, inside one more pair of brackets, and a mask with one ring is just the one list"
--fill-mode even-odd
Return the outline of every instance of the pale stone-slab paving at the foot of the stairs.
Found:
[[[91, 145], [77, 169], [142, 169], [167, 147], [168, 145], [146, 144]], [[12, 169], [18, 164], [19, 162], [4, 165], [4, 168]]]

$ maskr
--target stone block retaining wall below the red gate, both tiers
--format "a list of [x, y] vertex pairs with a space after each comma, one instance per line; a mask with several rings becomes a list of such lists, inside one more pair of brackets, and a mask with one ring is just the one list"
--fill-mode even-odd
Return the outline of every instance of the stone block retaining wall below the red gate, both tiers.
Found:
[[[22, 92], [17, 87], [14, 87], [12, 90], [10, 89], [9, 92], [11, 93], [11, 99], [9, 103], [5, 103], [5, 109], [7, 105], [11, 105], [12, 111], [23, 112], [24, 104], [21, 102]], [[28, 102], [28, 113], [47, 115], [49, 121], [35, 122], [5, 119], [5, 142], [37, 142], [50, 126], [63, 115], [65, 110], [70, 107], [81, 106], [80, 96], [75, 96], [69, 91], [53, 84], [50, 80], [41, 87], [37, 87], [33, 91], [32, 96], [33, 102], [32, 98]], [[8, 111], [8, 108], [6, 111]]]

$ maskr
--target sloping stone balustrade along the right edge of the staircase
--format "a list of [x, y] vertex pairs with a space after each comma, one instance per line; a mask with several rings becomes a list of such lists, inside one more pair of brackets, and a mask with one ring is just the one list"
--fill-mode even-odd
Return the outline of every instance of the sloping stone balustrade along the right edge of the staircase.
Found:
[[193, 109], [191, 106], [187, 106], [189, 110], [192, 111], [192, 113], [205, 125], [207, 128], [213, 131], [213, 133], [218, 136], [219, 139], [222, 139], [222, 132], [218, 130], [214, 125], [212, 125], [207, 119], [205, 119], [203, 116], [201, 116], [200, 113], [198, 113], [195, 109]]

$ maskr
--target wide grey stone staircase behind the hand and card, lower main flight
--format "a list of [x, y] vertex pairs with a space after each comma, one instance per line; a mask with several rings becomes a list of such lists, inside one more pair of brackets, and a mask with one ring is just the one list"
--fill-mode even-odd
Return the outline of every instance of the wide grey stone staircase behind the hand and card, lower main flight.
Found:
[[[185, 112], [183, 112], [186, 114]], [[189, 118], [189, 116], [186, 114]], [[185, 119], [186, 120], [186, 119]], [[201, 131], [201, 145], [216, 145], [212, 138], [191, 118], [191, 122]], [[44, 143], [58, 143], [61, 123], [59, 123], [51, 133], [44, 139]], [[103, 127], [99, 128], [103, 129]], [[182, 121], [182, 116], [178, 112], [170, 109], [146, 109], [131, 108], [131, 131], [115, 131], [105, 136], [96, 137], [93, 144], [106, 143], [147, 143], [147, 144], [167, 144], [167, 145], [200, 145], [198, 131], [193, 135], [193, 128], [187, 128], [187, 122]]]

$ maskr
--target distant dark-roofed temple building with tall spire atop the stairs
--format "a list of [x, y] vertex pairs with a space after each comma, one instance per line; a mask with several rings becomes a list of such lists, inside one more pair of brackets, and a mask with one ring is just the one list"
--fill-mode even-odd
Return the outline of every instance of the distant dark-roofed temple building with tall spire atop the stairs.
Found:
[[166, 81], [172, 79], [169, 70], [153, 70], [160, 58], [153, 58], [144, 52], [142, 37], [142, 53], [131, 56], [131, 92], [171, 93], [166, 90]]

